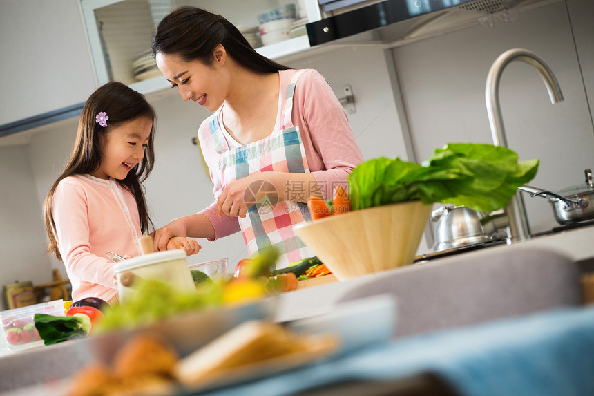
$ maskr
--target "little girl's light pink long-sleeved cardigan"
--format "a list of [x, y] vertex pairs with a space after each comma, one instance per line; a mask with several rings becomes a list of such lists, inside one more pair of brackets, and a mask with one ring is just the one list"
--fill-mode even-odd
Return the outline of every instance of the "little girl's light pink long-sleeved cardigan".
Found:
[[52, 214], [73, 300], [111, 300], [117, 294], [115, 263], [106, 252], [142, 253], [140, 218], [131, 192], [113, 178], [68, 176], [57, 185]]

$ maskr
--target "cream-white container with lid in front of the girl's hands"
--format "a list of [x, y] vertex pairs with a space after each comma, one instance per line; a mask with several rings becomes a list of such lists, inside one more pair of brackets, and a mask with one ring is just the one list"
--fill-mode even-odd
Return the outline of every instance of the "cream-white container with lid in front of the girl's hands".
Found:
[[143, 254], [120, 261], [115, 265], [119, 301], [124, 301], [134, 292], [138, 279], [157, 279], [179, 291], [195, 292], [196, 287], [188, 269], [184, 250], [168, 250]]

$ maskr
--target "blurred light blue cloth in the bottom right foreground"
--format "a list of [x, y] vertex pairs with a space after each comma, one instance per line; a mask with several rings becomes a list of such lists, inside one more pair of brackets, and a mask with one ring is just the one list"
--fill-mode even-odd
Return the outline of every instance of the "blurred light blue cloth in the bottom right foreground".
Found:
[[291, 395], [434, 373], [460, 395], [594, 395], [594, 308], [563, 308], [390, 341], [212, 395]]

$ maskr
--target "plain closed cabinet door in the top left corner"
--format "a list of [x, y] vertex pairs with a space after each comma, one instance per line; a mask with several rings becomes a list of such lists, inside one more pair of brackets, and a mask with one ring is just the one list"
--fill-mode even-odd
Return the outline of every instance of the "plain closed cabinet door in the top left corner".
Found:
[[95, 89], [79, 0], [1, 0], [0, 37], [0, 126], [79, 104]]

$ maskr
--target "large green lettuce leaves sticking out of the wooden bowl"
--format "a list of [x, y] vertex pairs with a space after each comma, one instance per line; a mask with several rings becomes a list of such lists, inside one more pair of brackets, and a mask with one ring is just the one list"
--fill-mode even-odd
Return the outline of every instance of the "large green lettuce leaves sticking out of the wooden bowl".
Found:
[[518, 162], [507, 147], [472, 143], [446, 144], [422, 164], [375, 158], [349, 175], [352, 209], [421, 200], [494, 211], [536, 176], [538, 164]]

